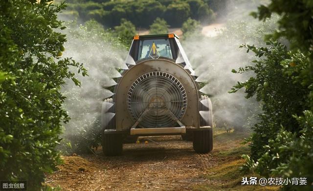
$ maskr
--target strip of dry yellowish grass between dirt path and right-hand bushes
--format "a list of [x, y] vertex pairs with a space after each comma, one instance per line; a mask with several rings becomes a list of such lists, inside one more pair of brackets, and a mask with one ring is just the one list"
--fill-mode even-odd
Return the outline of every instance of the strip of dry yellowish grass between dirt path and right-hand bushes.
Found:
[[220, 158], [219, 164], [208, 169], [204, 178], [207, 183], [193, 187], [196, 191], [268, 191], [278, 190], [279, 187], [261, 187], [241, 185], [243, 177], [259, 177], [257, 174], [242, 174], [239, 167], [245, 162], [241, 155], [248, 154], [249, 148], [243, 144], [244, 138], [248, 138], [250, 131], [230, 133], [224, 130], [215, 130], [215, 147], [213, 157]]

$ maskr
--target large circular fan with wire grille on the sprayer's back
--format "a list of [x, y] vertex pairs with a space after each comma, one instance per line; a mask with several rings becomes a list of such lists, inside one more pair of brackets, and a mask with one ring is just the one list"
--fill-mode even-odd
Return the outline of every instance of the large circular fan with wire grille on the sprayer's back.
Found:
[[139, 127], [172, 127], [186, 111], [187, 96], [171, 74], [150, 72], [134, 81], [127, 106]]

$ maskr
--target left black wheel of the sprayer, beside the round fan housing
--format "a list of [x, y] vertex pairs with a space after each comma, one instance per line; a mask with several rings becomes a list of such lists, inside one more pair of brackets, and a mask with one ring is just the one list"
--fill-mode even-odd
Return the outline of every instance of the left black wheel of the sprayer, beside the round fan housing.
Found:
[[111, 104], [114, 104], [113, 99], [106, 99], [104, 100], [101, 108], [101, 145], [103, 153], [108, 156], [119, 155], [123, 150], [123, 139], [121, 134], [104, 134], [105, 129], [116, 128], [115, 116], [112, 117], [112, 114], [109, 115], [109, 113], [115, 113], [115, 106], [110, 106]]

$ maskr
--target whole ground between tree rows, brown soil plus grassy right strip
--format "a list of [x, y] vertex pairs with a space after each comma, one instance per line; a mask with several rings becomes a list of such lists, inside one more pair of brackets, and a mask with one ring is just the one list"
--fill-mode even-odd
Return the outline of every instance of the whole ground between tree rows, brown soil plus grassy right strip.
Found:
[[65, 191], [242, 190], [238, 166], [247, 147], [240, 143], [248, 135], [217, 132], [208, 154], [195, 153], [180, 136], [139, 137], [121, 156], [104, 156], [101, 148], [96, 155], [64, 156], [46, 182]]

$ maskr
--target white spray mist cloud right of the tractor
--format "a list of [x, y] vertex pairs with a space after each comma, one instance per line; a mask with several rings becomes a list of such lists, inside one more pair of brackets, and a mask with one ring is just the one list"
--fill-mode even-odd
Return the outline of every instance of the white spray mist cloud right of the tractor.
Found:
[[[232, 69], [250, 64], [255, 57], [239, 48], [241, 44], [264, 46], [264, 35], [276, 28], [276, 19], [266, 22], [248, 16], [260, 1], [229, 0], [223, 17], [218, 20], [225, 28], [216, 37], [199, 34], [186, 37], [183, 42], [189, 60], [195, 68], [197, 81], [206, 83], [201, 92], [212, 100], [214, 121], [217, 127], [234, 127], [242, 130], [253, 113], [259, 110], [255, 100], [247, 100], [243, 90], [229, 94], [237, 82], [247, 80], [249, 74], [234, 74]], [[219, 23], [219, 24], [220, 24]]]

